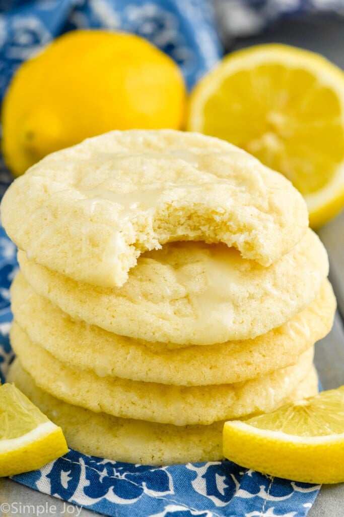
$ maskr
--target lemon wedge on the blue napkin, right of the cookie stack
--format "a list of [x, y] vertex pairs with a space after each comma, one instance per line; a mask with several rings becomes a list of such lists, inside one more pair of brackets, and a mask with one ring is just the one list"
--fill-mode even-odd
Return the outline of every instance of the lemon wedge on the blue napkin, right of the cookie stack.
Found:
[[344, 481], [344, 386], [273, 413], [225, 422], [223, 454], [271, 476]]

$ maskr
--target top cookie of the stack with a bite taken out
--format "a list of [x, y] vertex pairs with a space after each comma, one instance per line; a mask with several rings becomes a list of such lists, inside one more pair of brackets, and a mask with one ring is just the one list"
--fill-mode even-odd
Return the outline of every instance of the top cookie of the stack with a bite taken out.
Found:
[[175, 240], [223, 242], [269, 266], [308, 225], [301, 194], [243, 150], [198, 133], [112, 131], [14, 181], [2, 222], [17, 246], [74, 280], [121, 286]]

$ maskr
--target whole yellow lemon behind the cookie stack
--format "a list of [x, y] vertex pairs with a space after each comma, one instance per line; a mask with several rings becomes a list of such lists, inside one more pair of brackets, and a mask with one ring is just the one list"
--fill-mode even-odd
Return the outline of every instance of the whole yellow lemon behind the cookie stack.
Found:
[[70, 32], [15, 73], [2, 109], [4, 158], [19, 176], [111, 129], [181, 129], [185, 100], [177, 65], [143, 38]]

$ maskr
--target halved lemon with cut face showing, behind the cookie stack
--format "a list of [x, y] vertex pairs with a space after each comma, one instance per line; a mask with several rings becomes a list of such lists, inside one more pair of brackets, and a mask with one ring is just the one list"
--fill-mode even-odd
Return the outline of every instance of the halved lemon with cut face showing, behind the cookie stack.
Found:
[[193, 90], [188, 129], [287, 176], [313, 227], [344, 204], [344, 73], [313, 52], [266, 44], [225, 57]]

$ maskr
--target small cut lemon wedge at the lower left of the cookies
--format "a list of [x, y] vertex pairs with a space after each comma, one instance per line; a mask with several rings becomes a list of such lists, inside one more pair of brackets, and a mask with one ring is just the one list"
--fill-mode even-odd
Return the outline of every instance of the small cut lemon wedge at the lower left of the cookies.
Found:
[[0, 386], [0, 476], [35, 470], [67, 451], [61, 428], [13, 384]]

